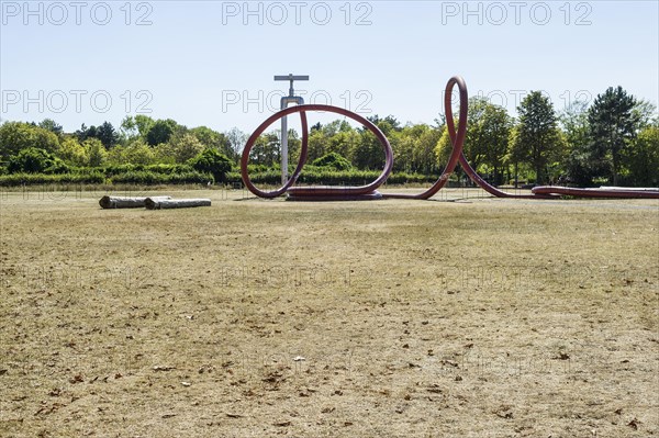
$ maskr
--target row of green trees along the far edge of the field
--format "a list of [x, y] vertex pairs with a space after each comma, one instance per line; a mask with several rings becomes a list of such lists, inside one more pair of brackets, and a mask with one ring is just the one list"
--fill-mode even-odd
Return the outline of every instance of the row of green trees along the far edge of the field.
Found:
[[[402, 124], [394, 116], [370, 116], [389, 138], [394, 172], [437, 176], [451, 150], [444, 120]], [[187, 127], [171, 119], [126, 116], [118, 128], [104, 122], [65, 133], [55, 121], [0, 125], [0, 173], [66, 173], [79, 169], [188, 166], [222, 180], [235, 170], [247, 135]], [[250, 155], [257, 171], [273, 172], [280, 162], [280, 133], [263, 134]], [[294, 168], [300, 134], [289, 131]], [[659, 119], [656, 108], [623, 88], [608, 88], [591, 105], [573, 102], [557, 112], [539, 91], [527, 94], [516, 117], [481, 97], [469, 100], [465, 155], [496, 186], [515, 182], [659, 184]], [[332, 159], [325, 159], [332, 157]], [[309, 161], [340, 171], [381, 169], [382, 147], [365, 127], [345, 120], [315, 124], [309, 132]], [[340, 162], [340, 168], [337, 167]], [[320, 164], [320, 165], [319, 165]], [[163, 167], [165, 166], [165, 167]], [[142, 169], [141, 168], [141, 169]], [[171, 168], [174, 169], [174, 168]], [[203, 179], [196, 176], [196, 180]]]

